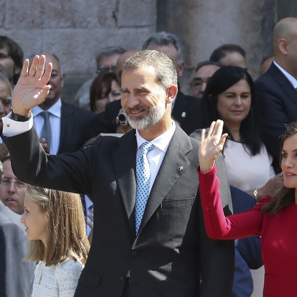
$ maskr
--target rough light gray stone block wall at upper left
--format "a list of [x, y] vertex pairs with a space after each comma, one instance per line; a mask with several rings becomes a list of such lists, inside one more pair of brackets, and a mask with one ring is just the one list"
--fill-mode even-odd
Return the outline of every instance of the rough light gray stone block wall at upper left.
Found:
[[55, 53], [66, 85], [63, 99], [95, 75], [95, 55], [105, 46], [141, 47], [156, 31], [156, 3], [150, 0], [2, 0], [0, 35], [14, 39], [25, 58]]

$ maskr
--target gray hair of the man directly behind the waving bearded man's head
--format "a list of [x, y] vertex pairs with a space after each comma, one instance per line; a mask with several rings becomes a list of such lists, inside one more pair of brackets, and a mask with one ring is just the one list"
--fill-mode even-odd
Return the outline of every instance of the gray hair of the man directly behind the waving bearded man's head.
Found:
[[168, 33], [165, 31], [157, 32], [153, 35], [151, 35], [149, 38], [147, 38], [143, 45], [142, 45], [142, 50], [146, 50], [147, 47], [150, 44], [158, 45], [158, 46], [167, 46], [167, 45], [173, 45], [178, 53], [178, 64], [181, 65], [183, 62], [183, 57], [182, 57], [182, 50], [183, 47], [177, 38], [176, 35], [172, 33]]

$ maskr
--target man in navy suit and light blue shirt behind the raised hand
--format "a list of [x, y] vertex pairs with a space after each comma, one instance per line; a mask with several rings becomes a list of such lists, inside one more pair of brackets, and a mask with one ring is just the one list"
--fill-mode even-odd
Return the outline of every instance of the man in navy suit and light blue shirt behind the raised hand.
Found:
[[64, 85], [65, 74], [62, 73], [59, 59], [56, 55], [45, 54], [47, 62], [53, 65], [49, 80], [51, 90], [47, 100], [33, 109], [34, 125], [39, 138], [43, 137], [45, 122], [42, 113], [49, 112], [51, 125], [51, 145], [48, 139], [41, 139], [44, 149], [50, 154], [70, 153], [79, 150], [89, 139], [99, 134], [98, 115], [63, 102], [60, 92]]

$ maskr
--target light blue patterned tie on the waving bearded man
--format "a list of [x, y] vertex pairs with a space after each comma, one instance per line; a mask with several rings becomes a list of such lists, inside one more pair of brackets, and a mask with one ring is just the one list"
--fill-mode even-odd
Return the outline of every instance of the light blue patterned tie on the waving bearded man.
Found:
[[136, 203], [135, 203], [135, 226], [136, 235], [144, 213], [144, 208], [149, 198], [150, 189], [150, 166], [146, 154], [155, 148], [149, 141], [142, 143], [140, 156], [136, 162]]

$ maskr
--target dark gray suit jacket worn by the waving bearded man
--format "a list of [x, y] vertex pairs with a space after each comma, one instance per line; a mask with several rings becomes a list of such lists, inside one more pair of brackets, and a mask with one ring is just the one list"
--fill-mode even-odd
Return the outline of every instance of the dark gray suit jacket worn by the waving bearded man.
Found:
[[[15, 175], [43, 187], [85, 193], [94, 202], [94, 235], [75, 296], [226, 297], [234, 242], [207, 237], [198, 191], [199, 142], [179, 126], [168, 146], [135, 236], [136, 136], [101, 135], [79, 152], [47, 156], [34, 129], [6, 138]], [[22, 143], [22, 145], [19, 145]], [[231, 199], [222, 156], [223, 204]], [[201, 284], [200, 284], [201, 281]]]

